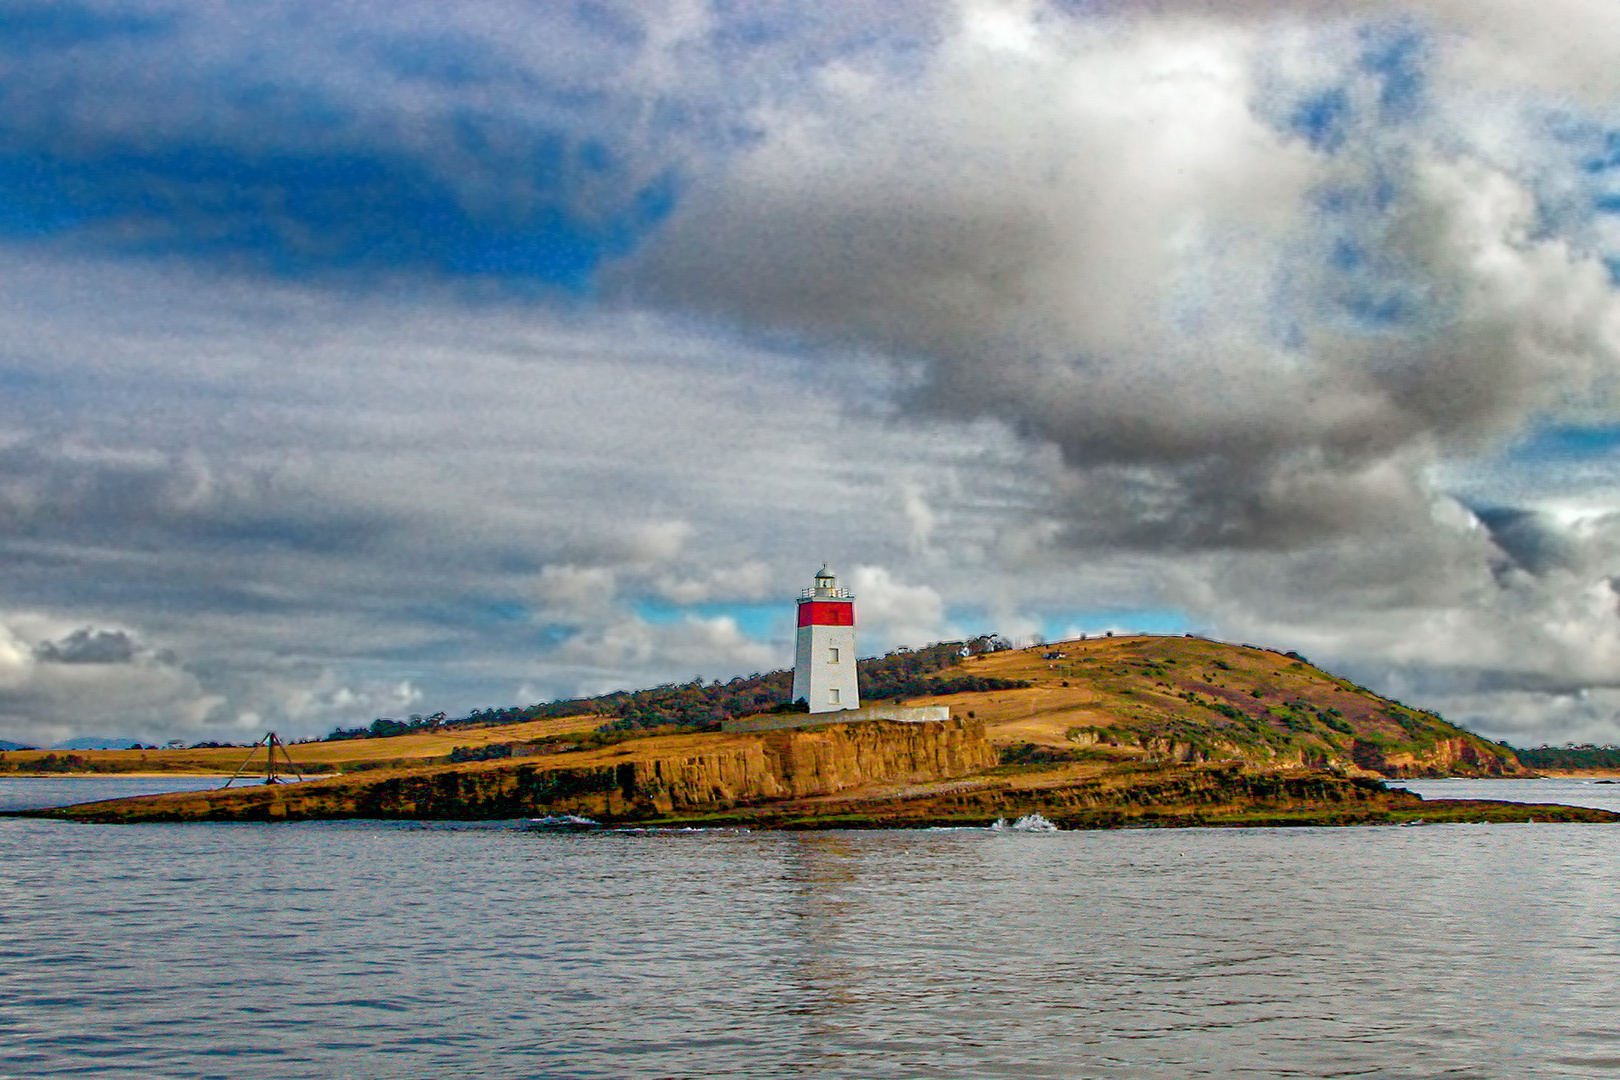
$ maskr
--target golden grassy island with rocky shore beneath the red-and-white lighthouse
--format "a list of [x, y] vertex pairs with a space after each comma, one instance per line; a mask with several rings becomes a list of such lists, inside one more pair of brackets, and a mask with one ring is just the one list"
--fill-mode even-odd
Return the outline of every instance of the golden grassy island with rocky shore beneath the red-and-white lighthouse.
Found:
[[[734, 725], [763, 730], [646, 730], [572, 716], [441, 727], [295, 745], [295, 761], [329, 774], [298, 784], [26, 813], [83, 823], [572, 818], [773, 829], [1027, 814], [1068, 829], [1620, 821], [1601, 810], [1392, 790], [1388, 779], [1536, 774], [1510, 746], [1294, 653], [1197, 636], [1095, 636], [951, 651], [935, 677], [909, 685], [919, 693], [894, 701], [896, 714], [938, 719], [823, 712]], [[782, 708], [766, 716], [792, 719]], [[241, 761], [241, 750], [83, 759], [112, 755], [144, 771], [227, 771]], [[0, 767], [28, 767], [19, 753], [3, 758]]]

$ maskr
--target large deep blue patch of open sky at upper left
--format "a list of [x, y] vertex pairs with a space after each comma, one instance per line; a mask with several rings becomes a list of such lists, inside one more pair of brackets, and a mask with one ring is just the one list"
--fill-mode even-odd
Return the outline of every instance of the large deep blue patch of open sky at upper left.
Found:
[[[484, 162], [486, 173], [499, 162]], [[0, 154], [0, 232], [78, 235], [136, 254], [183, 254], [301, 277], [343, 270], [512, 277], [585, 288], [674, 207], [663, 173], [616, 201], [599, 144], [536, 139], [504, 199], [484, 201], [428, 162], [373, 151], [245, 154], [214, 144], [73, 157]], [[608, 175], [609, 185], [599, 185]], [[467, 185], [471, 186], [471, 185]]]

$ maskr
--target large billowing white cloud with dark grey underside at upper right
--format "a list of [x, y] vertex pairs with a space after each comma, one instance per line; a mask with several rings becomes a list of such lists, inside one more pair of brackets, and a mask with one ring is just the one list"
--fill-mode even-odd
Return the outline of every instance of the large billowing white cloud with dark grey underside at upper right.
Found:
[[629, 287], [915, 361], [912, 410], [1059, 452], [1084, 547], [1421, 518], [1437, 455], [1614, 371], [1599, 253], [1460, 142], [1418, 29], [1296, 40], [1293, 84], [1257, 26], [1030, 11], [967, 5], [920, 76], [834, 65], [758, 110]]

